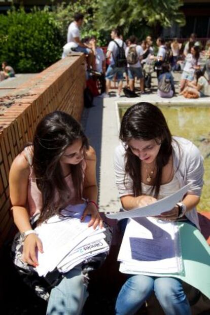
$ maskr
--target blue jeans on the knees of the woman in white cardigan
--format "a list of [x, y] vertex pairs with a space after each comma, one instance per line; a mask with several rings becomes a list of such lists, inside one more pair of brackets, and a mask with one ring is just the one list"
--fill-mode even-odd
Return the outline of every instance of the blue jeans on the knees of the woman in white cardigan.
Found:
[[131, 275], [116, 302], [117, 315], [132, 315], [154, 291], [166, 315], [190, 315], [190, 305], [179, 279]]

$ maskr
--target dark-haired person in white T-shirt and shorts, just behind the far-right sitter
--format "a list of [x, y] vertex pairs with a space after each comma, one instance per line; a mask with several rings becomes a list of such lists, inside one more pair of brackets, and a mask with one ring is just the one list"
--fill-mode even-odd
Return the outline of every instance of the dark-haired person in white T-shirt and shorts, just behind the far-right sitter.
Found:
[[180, 92], [188, 86], [189, 82], [193, 81], [196, 69], [200, 69], [200, 52], [198, 46], [192, 47], [191, 52], [185, 58], [185, 66], [180, 81]]

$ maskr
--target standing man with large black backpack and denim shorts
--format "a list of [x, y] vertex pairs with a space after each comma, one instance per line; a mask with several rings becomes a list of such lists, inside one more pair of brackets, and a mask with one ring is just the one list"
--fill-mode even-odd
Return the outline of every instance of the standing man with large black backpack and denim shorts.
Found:
[[110, 59], [110, 64], [106, 72], [106, 96], [109, 97], [109, 90], [111, 81], [117, 76], [118, 81], [118, 93], [117, 97], [120, 97], [123, 86], [123, 73], [127, 66], [127, 60], [125, 57], [126, 45], [120, 38], [120, 31], [115, 28], [111, 31], [112, 41], [107, 48], [107, 58]]

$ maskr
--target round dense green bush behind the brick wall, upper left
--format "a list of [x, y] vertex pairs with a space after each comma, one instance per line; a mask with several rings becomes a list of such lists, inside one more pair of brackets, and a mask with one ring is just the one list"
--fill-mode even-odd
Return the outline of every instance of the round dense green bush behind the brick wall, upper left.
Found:
[[9, 11], [0, 20], [0, 58], [16, 72], [39, 72], [61, 56], [62, 38], [47, 9]]

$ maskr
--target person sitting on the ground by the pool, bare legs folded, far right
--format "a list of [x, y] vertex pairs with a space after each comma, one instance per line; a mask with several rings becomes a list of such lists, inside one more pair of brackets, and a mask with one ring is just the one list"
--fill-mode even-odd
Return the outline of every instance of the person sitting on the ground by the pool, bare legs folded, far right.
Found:
[[208, 94], [208, 81], [203, 75], [203, 71], [198, 69], [195, 70], [195, 80], [189, 82], [188, 86], [181, 93], [186, 98], [198, 98], [207, 96]]

